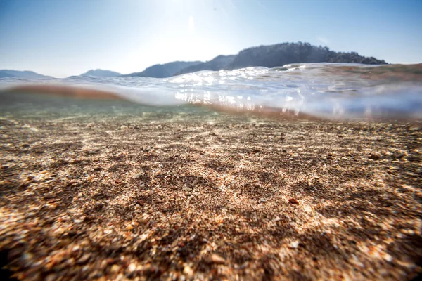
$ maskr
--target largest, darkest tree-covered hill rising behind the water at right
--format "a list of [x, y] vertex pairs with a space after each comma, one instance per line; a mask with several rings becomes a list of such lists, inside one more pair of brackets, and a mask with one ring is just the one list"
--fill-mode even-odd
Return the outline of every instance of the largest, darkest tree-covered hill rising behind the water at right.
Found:
[[251, 66], [276, 67], [290, 63], [387, 64], [385, 60], [364, 57], [356, 52], [335, 52], [327, 47], [298, 42], [246, 48], [237, 55], [219, 55], [209, 62], [186, 67], [176, 74], [196, 72], [199, 70], [234, 70]]

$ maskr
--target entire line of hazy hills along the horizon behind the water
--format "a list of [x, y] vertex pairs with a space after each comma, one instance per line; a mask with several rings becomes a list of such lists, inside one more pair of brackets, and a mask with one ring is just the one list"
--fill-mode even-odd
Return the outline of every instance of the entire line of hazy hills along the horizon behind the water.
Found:
[[[217, 55], [217, 57], [207, 62], [201, 61], [174, 61], [165, 64], [152, 65], [142, 72], [133, 72], [129, 74], [120, 74], [110, 70], [89, 70], [80, 76], [92, 75], [98, 77], [153, 77], [166, 78], [174, 75], [197, 72], [200, 70], [234, 70], [243, 67], [278, 67], [290, 63], [363, 63], [369, 65], [388, 64], [385, 60], [378, 60], [373, 57], [365, 57], [357, 52], [335, 52], [328, 47], [314, 46], [309, 43], [281, 43], [267, 46], [255, 46], [245, 48], [237, 55]], [[5, 76], [6, 75], [6, 76]], [[9, 75], [9, 76], [7, 76]], [[27, 75], [27, 74], [26, 74]], [[44, 75], [34, 72], [31, 77], [38, 75], [39, 78]], [[24, 72], [14, 70], [0, 70], [1, 77], [22, 77]]]

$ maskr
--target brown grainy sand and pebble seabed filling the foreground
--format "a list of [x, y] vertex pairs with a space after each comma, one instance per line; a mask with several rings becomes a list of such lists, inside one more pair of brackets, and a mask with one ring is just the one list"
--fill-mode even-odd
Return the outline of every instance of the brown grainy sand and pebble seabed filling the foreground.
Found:
[[22, 280], [410, 280], [422, 124], [0, 119]]

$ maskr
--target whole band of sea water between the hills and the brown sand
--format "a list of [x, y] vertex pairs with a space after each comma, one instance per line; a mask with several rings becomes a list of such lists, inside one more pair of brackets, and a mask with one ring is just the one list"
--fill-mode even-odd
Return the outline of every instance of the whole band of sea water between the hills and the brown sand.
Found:
[[[15, 86], [41, 84], [108, 91], [124, 101], [73, 100], [67, 96], [40, 98], [8, 93]], [[255, 115], [271, 111], [281, 117], [288, 113], [327, 119], [422, 118], [422, 64], [309, 63], [201, 71], [165, 79], [2, 78], [0, 91], [3, 117], [16, 114], [82, 116], [83, 113], [183, 118], [186, 112], [213, 114], [212, 110], [231, 110]]]

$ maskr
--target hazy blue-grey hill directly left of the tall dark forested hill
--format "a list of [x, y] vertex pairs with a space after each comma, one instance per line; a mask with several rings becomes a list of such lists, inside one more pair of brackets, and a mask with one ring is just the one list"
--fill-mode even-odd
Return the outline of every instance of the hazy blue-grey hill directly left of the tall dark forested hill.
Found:
[[165, 63], [164, 65], [153, 65], [143, 72], [134, 72], [131, 74], [127, 74], [124, 76], [137, 76], [137, 77], [155, 77], [155, 78], [166, 78], [173, 76], [180, 70], [190, 67], [193, 65], [198, 65], [202, 62], [200, 61], [193, 61], [193, 62], [184, 62], [184, 61], [175, 61], [172, 63]]

